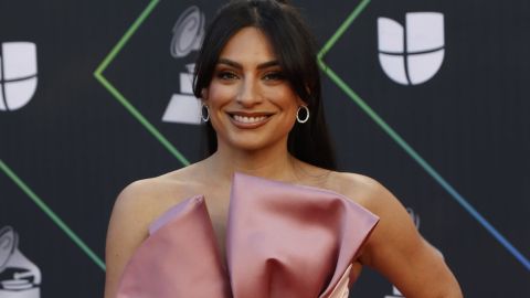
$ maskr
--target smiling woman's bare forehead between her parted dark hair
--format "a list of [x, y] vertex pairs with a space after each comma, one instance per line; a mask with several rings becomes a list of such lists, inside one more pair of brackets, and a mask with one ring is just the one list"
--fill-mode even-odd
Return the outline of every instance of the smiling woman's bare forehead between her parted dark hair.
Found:
[[220, 58], [259, 64], [276, 60], [276, 55], [267, 36], [259, 29], [246, 26], [229, 40]]

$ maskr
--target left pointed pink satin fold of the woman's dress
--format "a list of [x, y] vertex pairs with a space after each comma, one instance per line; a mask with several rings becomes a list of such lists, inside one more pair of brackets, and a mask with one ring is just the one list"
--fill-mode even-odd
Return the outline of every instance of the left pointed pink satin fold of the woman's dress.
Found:
[[232, 297], [203, 196], [170, 209], [125, 268], [117, 298]]

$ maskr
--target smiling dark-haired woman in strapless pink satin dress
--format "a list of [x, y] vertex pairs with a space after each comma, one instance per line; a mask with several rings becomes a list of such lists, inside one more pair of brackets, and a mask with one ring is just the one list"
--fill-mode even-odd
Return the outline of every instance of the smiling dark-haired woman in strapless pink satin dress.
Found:
[[[206, 121], [206, 129], [209, 130], [211, 156], [200, 162], [161, 177], [134, 182], [119, 194], [107, 235], [105, 297], [116, 297], [118, 291], [123, 295], [127, 291], [125, 288], [139, 287], [138, 284], [142, 283], [148, 287], [148, 281], [141, 279], [141, 276], [149, 278], [151, 272], [146, 273], [145, 266], [159, 262], [156, 259], [157, 256], [153, 256], [160, 253], [160, 251], [157, 251], [158, 248], [155, 248], [158, 247], [158, 244], [152, 243], [156, 242], [156, 233], [161, 234], [162, 232], [157, 231], [163, 228], [167, 222], [166, 217], [173, 216], [168, 214], [182, 212], [182, 209], [190, 206], [191, 201], [186, 201], [184, 199], [194, 198], [198, 194], [203, 196], [194, 202], [198, 202], [198, 204], [203, 203], [204, 206], [208, 206], [206, 216], [208, 220], [211, 220], [213, 228], [211, 232], [214, 238], [212, 242], [214, 248], [211, 252], [213, 257], [206, 256], [208, 262], [212, 259], [211, 264], [213, 265], [208, 262], [206, 264], [216, 269], [215, 273], [212, 273], [215, 276], [213, 279], [223, 279], [219, 284], [219, 295], [213, 296], [317, 297], [325, 295], [320, 297], [332, 297], [329, 294], [336, 292], [333, 287], [336, 289], [341, 283], [348, 283], [348, 279], [344, 279], [346, 276], [351, 278], [349, 280], [350, 284], [354, 281], [364, 265], [384, 275], [409, 298], [462, 297], [459, 286], [443, 258], [421, 237], [404, 207], [388, 190], [370, 178], [333, 171], [335, 162], [327, 138], [320, 100], [320, 82], [316, 64], [315, 43], [306, 25], [292, 6], [285, 3], [285, 1], [232, 1], [223, 7], [211, 24], [199, 54], [195, 67], [194, 94], [203, 103], [203, 120]], [[243, 175], [234, 175], [237, 172], [243, 173]], [[234, 177], [240, 181], [237, 182], [237, 189]], [[350, 233], [348, 231], [350, 231], [351, 226], [340, 225], [344, 225], [344, 222], [347, 223], [349, 220], [358, 223], [358, 217], [368, 219], [370, 222], [370, 225], [363, 228], [362, 236], [356, 238], [358, 245], [356, 249], [348, 252], [344, 248], [341, 252], [333, 251], [331, 253], [326, 251], [331, 256], [330, 258], [322, 257], [326, 262], [329, 263], [329, 259], [340, 258], [342, 253], [346, 252], [346, 255], [349, 256], [347, 260], [351, 264], [346, 270], [344, 266], [342, 266], [343, 264], [341, 264], [341, 269], [336, 269], [335, 275], [332, 273], [322, 273], [322, 278], [315, 283], [328, 283], [327, 287], [318, 286], [316, 287], [318, 290], [311, 289], [310, 294], [303, 291], [304, 289], [301, 288], [314, 286], [311, 281], [300, 287], [300, 291], [297, 294], [296, 290], [298, 289], [292, 290], [296, 288], [296, 283], [283, 285], [282, 287], [278, 285], [283, 280], [274, 280], [275, 275], [268, 274], [266, 275], [267, 278], [265, 278], [267, 280], [257, 280], [257, 284], [253, 287], [257, 290], [266, 284], [266, 290], [271, 290], [271, 288], [278, 286], [278, 289], [285, 290], [284, 294], [273, 294], [273, 291], [268, 292], [268, 296], [258, 291], [255, 295], [242, 294], [245, 292], [246, 281], [242, 281], [243, 285], [241, 285], [241, 283], [237, 284], [234, 280], [248, 280], [245, 279], [246, 275], [252, 275], [254, 272], [244, 272], [245, 266], [252, 266], [252, 263], [255, 260], [253, 256], [258, 255], [256, 252], [259, 252], [263, 247], [267, 248], [262, 251], [267, 251], [268, 243], [257, 248], [244, 247], [245, 243], [248, 246], [255, 246], [255, 243], [245, 242], [248, 238], [237, 243], [233, 234], [245, 234], [250, 231], [250, 237], [252, 237], [256, 233], [250, 226], [240, 224], [232, 217], [246, 216], [245, 223], [251, 223], [253, 222], [252, 217], [259, 217], [262, 212], [274, 210], [271, 214], [267, 214], [274, 217], [275, 212], [282, 213], [285, 207], [266, 209], [250, 205], [247, 206], [250, 210], [255, 207], [253, 211], [257, 210], [258, 213], [251, 216], [248, 214], [242, 215], [242, 213], [248, 213], [250, 211], [233, 206], [248, 201], [239, 198], [240, 193], [246, 191], [246, 195], [252, 195], [255, 189], [256, 192], [262, 191], [263, 188], [259, 189], [261, 185], [266, 185], [265, 189], [267, 189], [264, 191], [265, 199], [261, 200], [272, 200], [273, 206], [285, 204], [286, 202], [286, 200], [274, 201], [276, 200], [274, 198], [267, 199], [271, 196], [267, 194], [267, 191], [272, 192], [274, 190], [277, 194], [276, 189], [280, 190], [280, 195], [282, 190], [304, 193], [301, 195], [304, 198], [300, 200], [305, 200], [305, 196], [310, 196], [312, 193], [321, 195], [321, 201], [311, 201], [311, 203], [300, 201], [301, 203], [288, 210], [287, 214], [293, 216], [297, 216], [300, 207], [303, 209], [309, 204], [321, 206], [324, 204], [321, 202], [331, 202], [329, 205], [340, 205], [337, 210], [347, 210], [337, 213], [337, 216], [342, 216], [340, 223], [338, 223], [339, 227], [332, 220], [322, 224], [324, 221], [329, 219], [322, 220], [326, 217], [326, 214], [321, 212], [310, 213], [311, 216], [309, 217], [311, 219], [304, 219], [304, 221], [307, 220], [309, 222], [314, 221], [314, 217], [317, 219], [307, 226], [307, 230], [311, 230], [315, 224], [319, 225], [317, 226], [318, 228], [311, 230], [311, 233], [317, 233], [315, 235], [320, 233], [322, 226], [327, 228], [327, 232], [331, 228], [332, 234], [335, 236], [338, 235], [339, 242], [342, 241], [341, 246], [339, 245], [341, 247], [339, 251], [343, 247], [349, 247], [348, 241], [344, 240], [349, 240], [350, 234], [361, 233], [357, 230], [352, 230]], [[330, 196], [332, 198], [330, 199]], [[233, 202], [235, 200], [239, 200], [237, 203]], [[293, 200], [297, 200], [297, 198]], [[259, 203], [258, 201], [253, 204], [258, 205]], [[181, 207], [182, 205], [183, 207]], [[174, 206], [178, 206], [177, 211], [174, 211]], [[326, 207], [328, 207], [327, 203]], [[286, 206], [286, 209], [289, 209], [289, 206]], [[372, 213], [380, 219], [377, 225], [377, 217]], [[336, 216], [333, 215], [332, 217]], [[180, 222], [174, 225], [174, 231], [169, 231], [170, 234], [167, 235], [169, 237], [181, 237], [182, 234], [187, 234], [189, 230], [176, 233], [177, 230], [187, 226], [186, 223]], [[271, 226], [275, 224], [277, 222], [273, 221], [267, 223], [267, 226], [264, 228], [271, 230]], [[279, 224], [275, 228], [278, 234], [285, 234], [287, 233], [285, 231], [290, 231], [292, 226], [289, 225]], [[305, 226], [296, 228], [295, 231], [299, 231], [300, 235], [305, 235]], [[337, 232], [339, 230], [348, 233]], [[208, 224], [204, 231], [206, 235], [205, 241], [208, 242]], [[227, 233], [229, 235], [226, 235]], [[198, 238], [201, 235], [193, 232], [187, 235], [187, 237], [179, 240], [171, 249], [186, 248], [188, 240], [189, 242], [197, 242], [200, 241]], [[318, 246], [320, 242], [326, 243], [328, 241], [326, 235], [329, 234], [322, 235], [325, 236], [311, 238], [315, 246]], [[296, 233], [294, 236], [297, 236]], [[274, 245], [282, 247], [284, 240], [285, 237]], [[168, 240], [163, 238], [159, 242], [163, 241]], [[259, 240], [256, 241], [258, 243]], [[237, 247], [239, 245], [243, 247]], [[296, 246], [297, 244], [289, 245]], [[193, 247], [197, 247], [199, 251], [204, 248], [202, 244]], [[215, 249], [219, 249], [219, 254], [216, 254]], [[236, 249], [239, 249], [237, 254], [231, 252]], [[246, 249], [254, 251], [252, 251], [248, 259], [239, 260], [237, 257], [241, 254], [245, 254]], [[298, 249], [300, 254], [304, 254], [301, 251], [311, 251], [311, 247], [305, 245], [304, 247], [298, 247]], [[336, 247], [332, 249], [336, 249]], [[191, 253], [186, 251], [182, 254], [191, 254], [191, 257], [193, 257], [193, 253], [195, 255], [203, 254], [199, 253], [199, 251]], [[174, 254], [180, 253], [179, 251], [179, 253]], [[165, 257], [172, 258], [173, 256], [170, 253], [165, 255]], [[258, 256], [255, 258], [258, 258]], [[318, 260], [320, 256], [317, 255], [311, 262], [315, 258]], [[306, 270], [305, 268], [296, 268], [297, 266], [306, 266], [301, 265], [306, 263], [286, 265], [282, 263], [283, 260], [277, 260], [271, 256], [265, 256], [264, 259], [264, 263], [267, 264], [272, 262], [272, 265], [268, 264], [271, 266], [265, 266], [267, 270], [278, 273], [278, 276], [284, 274], [284, 272], [290, 273], [292, 267], [295, 267], [293, 270], [297, 272], [298, 275], [304, 275], [304, 270]], [[286, 263], [289, 262], [286, 260]], [[337, 263], [340, 262], [338, 260]], [[167, 264], [163, 264], [163, 260], [160, 263], [157, 265], [157, 268], [163, 267], [167, 269], [165, 267]], [[202, 260], [199, 263], [203, 265]], [[202, 266], [198, 263], [194, 264]], [[236, 265], [233, 264], [243, 265], [241, 267], [243, 272], [237, 272]], [[174, 266], [177, 267], [169, 267], [171, 273], [156, 272], [152, 275], [157, 276], [157, 278], [182, 276], [186, 279], [189, 278], [188, 273], [195, 274], [198, 272], [202, 276], [202, 272], [210, 270], [208, 266], [205, 267], [206, 269], [198, 269], [193, 265], [188, 267]], [[329, 266], [324, 264], [321, 267], [327, 268]], [[150, 268], [149, 270], [158, 270], [157, 268]], [[211, 270], [214, 270], [214, 268]], [[182, 272], [184, 273], [182, 274]], [[320, 274], [318, 268], [316, 272]], [[316, 274], [316, 272], [311, 272], [311, 274]], [[331, 275], [332, 278], [330, 277]], [[130, 279], [130, 276], [135, 276], [134, 278], [136, 279]], [[300, 283], [299, 279], [296, 279], [298, 277], [293, 277], [293, 280]], [[304, 278], [309, 280], [312, 276], [305, 275]], [[215, 280], [212, 283], [215, 283]], [[119, 286], [120, 283], [121, 286]], [[129, 283], [129, 286], [124, 286], [127, 283]], [[179, 279], [176, 283], [179, 283]], [[190, 279], [190, 283], [194, 283], [194, 279]], [[170, 285], [166, 286], [170, 287]], [[184, 287], [190, 288], [209, 286], [211, 286], [209, 283], [184, 285]], [[180, 297], [174, 292], [173, 295], [169, 295], [168, 297]], [[347, 297], [344, 291], [340, 295]], [[137, 295], [136, 297], [140, 296]], [[151, 296], [155, 297], [153, 294]], [[162, 296], [156, 295], [156, 297]], [[119, 297], [135, 297], [135, 295], [123, 295]], [[149, 297], [149, 295], [146, 297]]]

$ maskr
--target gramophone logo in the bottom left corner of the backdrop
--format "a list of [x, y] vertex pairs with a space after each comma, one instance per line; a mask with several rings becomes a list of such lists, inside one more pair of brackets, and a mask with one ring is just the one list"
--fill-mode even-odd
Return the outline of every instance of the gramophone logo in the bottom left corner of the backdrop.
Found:
[[18, 245], [11, 226], [0, 228], [0, 298], [40, 298], [41, 270]]

